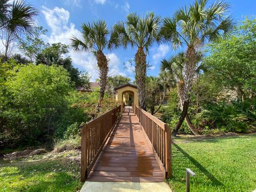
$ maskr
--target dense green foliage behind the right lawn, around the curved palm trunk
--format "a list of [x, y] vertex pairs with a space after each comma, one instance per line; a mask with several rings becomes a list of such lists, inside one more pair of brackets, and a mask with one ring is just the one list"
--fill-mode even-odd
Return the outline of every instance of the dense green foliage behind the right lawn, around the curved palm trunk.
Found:
[[[201, 133], [255, 131], [256, 19], [246, 19], [238, 33], [207, 45], [199, 73], [191, 91], [190, 115]], [[171, 127], [181, 113], [175, 90], [170, 93], [163, 120]], [[190, 133], [182, 124], [180, 133]]]

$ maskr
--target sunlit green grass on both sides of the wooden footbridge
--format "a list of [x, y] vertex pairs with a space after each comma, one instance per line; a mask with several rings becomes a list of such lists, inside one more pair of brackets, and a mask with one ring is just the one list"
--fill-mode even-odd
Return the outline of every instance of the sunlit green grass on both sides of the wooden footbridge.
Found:
[[[55, 150], [63, 148], [63, 142], [58, 144]], [[186, 168], [196, 173], [190, 178], [191, 192], [256, 189], [256, 134], [177, 138], [172, 155], [168, 182], [173, 191], [186, 191]], [[83, 185], [78, 162], [78, 150], [0, 160], [0, 191], [77, 191]]]

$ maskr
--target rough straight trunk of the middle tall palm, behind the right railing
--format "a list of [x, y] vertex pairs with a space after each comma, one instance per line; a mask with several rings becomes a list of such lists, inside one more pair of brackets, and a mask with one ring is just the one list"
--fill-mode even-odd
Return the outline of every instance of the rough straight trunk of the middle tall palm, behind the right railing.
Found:
[[142, 47], [139, 47], [135, 54], [135, 81], [138, 87], [139, 107], [146, 109], [146, 54]]

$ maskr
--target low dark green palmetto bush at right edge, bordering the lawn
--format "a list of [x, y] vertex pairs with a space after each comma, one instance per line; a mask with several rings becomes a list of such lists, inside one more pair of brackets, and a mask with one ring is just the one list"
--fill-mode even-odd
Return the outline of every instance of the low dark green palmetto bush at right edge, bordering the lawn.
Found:
[[253, 101], [211, 103], [196, 115], [199, 126], [209, 126], [224, 132], [249, 132], [255, 130], [255, 99]]

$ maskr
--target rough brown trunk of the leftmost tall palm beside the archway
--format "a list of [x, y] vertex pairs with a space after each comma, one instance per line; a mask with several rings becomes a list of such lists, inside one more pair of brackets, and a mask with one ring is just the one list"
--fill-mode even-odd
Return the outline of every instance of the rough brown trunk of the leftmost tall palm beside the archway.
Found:
[[100, 107], [101, 107], [101, 101], [104, 98], [105, 90], [107, 87], [108, 60], [102, 51], [97, 51], [96, 58], [97, 58], [97, 64], [99, 67], [99, 78], [100, 78], [100, 82], [99, 82], [100, 95], [99, 95], [99, 101], [98, 101], [98, 105], [97, 105], [97, 111], [99, 111]]

